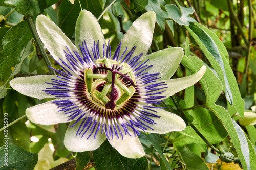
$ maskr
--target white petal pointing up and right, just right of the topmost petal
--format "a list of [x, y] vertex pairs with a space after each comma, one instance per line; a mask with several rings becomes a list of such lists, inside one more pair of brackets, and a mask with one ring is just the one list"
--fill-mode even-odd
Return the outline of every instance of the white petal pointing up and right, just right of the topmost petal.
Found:
[[138, 56], [143, 53], [141, 57], [142, 60], [151, 46], [155, 23], [156, 14], [153, 11], [144, 13], [134, 21], [133, 25], [127, 30], [121, 40], [122, 46], [120, 55], [123, 54], [126, 47], [128, 47], [128, 49], [125, 55], [132, 50], [134, 46], [137, 46], [133, 56]]

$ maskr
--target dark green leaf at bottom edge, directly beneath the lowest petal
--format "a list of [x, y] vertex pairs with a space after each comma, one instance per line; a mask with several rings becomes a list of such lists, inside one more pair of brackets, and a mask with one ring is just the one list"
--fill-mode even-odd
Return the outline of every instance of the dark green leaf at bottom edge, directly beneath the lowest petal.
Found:
[[95, 151], [93, 151], [95, 166], [98, 170], [104, 169], [147, 169], [148, 161], [146, 157], [129, 159], [120, 155], [108, 140]]

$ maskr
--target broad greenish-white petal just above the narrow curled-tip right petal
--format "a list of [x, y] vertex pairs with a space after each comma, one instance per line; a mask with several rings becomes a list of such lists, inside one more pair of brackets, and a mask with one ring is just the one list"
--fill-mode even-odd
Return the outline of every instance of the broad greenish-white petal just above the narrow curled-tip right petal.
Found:
[[146, 70], [149, 74], [160, 73], [158, 80], [170, 79], [181, 62], [183, 56], [183, 49], [181, 47], [168, 48], [164, 50], [157, 51], [150, 55], [147, 55], [142, 63], [149, 59], [146, 64], [153, 65], [153, 67]]

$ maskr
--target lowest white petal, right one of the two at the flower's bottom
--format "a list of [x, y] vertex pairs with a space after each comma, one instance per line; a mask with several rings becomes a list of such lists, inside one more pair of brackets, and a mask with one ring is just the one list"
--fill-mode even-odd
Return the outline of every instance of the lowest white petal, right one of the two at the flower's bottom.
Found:
[[[129, 134], [125, 135], [124, 131], [122, 131], [123, 139], [119, 135], [119, 139], [114, 135], [114, 138], [110, 139], [109, 142], [122, 156], [127, 158], [141, 158], [145, 155], [143, 147], [140, 143], [138, 136], [134, 136], [134, 132], [131, 128], [127, 127]], [[120, 128], [122, 129], [122, 128]]]

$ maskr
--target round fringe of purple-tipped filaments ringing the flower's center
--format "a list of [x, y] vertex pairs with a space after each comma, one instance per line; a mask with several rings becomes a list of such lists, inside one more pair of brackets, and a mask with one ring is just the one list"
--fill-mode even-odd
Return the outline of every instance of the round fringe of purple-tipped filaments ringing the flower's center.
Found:
[[[75, 120], [71, 127], [77, 123], [80, 124], [76, 135], [83, 137], [84, 134], [88, 134], [87, 139], [91, 136], [95, 138], [99, 132], [105, 133], [108, 139], [113, 139], [114, 136], [123, 138], [123, 135], [131, 135], [131, 132], [138, 135], [139, 131], [152, 129], [151, 125], [156, 124], [151, 117], [160, 118], [153, 109], [162, 108], [157, 104], [160, 104], [161, 99], [164, 98], [159, 94], [164, 91], [166, 84], [164, 82], [155, 83], [159, 79], [157, 77], [159, 73], [149, 74], [147, 72], [152, 65], [146, 65], [148, 60], [141, 63], [142, 54], [133, 56], [136, 46], [125, 55], [126, 48], [121, 56], [119, 56], [120, 48], [121, 42], [111, 57], [111, 47], [108, 44], [105, 52], [103, 45], [102, 58], [120, 62], [111, 64], [110, 68], [106, 63], [102, 64], [96, 61], [102, 59], [99, 53], [99, 41], [97, 44], [94, 43], [91, 53], [84, 41], [80, 46], [82, 56], [67, 48], [67, 52], [64, 51], [66, 62], [63, 60], [59, 62], [63, 71], [52, 68], [59, 75], [56, 76], [56, 79], [52, 79], [52, 83], [48, 83], [52, 87], [45, 91], [57, 98], [64, 98], [53, 103], [58, 106], [59, 111], [69, 115], [68, 120]], [[126, 69], [131, 70], [132, 73], [122, 73], [125, 69], [124, 65], [127, 65], [129, 68]], [[87, 77], [84, 72], [86, 69], [91, 69], [92, 75], [102, 75], [99, 78], [90, 79], [92, 80], [91, 91], [88, 91], [85, 83]], [[108, 71], [112, 74], [111, 81], [103, 78], [106, 77]], [[115, 83], [116, 79], [121, 85]], [[105, 86], [108, 86], [109, 90]], [[128, 88], [134, 89], [133, 93], [125, 91]], [[108, 91], [105, 96], [101, 97], [104, 90]], [[158, 95], [155, 96], [156, 94]], [[96, 96], [100, 96], [99, 99]], [[120, 101], [123, 102], [117, 104], [119, 99], [122, 99]]]

